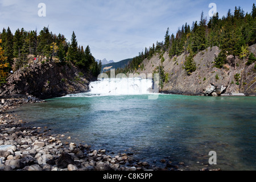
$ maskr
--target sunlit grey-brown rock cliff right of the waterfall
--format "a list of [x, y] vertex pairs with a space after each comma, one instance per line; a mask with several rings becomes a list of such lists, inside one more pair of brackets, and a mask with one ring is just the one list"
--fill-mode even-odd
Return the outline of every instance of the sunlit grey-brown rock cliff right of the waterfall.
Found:
[[[249, 52], [256, 55], [256, 44], [249, 47]], [[234, 60], [233, 56], [228, 56], [224, 68], [214, 67], [214, 59], [220, 53], [218, 47], [205, 49], [197, 53], [193, 60], [196, 63], [196, 71], [190, 76], [184, 69], [185, 53], [170, 59], [168, 53], [164, 53], [164, 72], [168, 73], [169, 81], [164, 84], [160, 92], [172, 94], [188, 95], [236, 95], [243, 93], [245, 95], [256, 95], [256, 70], [254, 66], [246, 65], [247, 60], [243, 62], [239, 57]], [[237, 65], [235, 69], [235, 63]], [[143, 70], [138, 69], [136, 73], [153, 73], [156, 67], [161, 65], [159, 55], [153, 56], [150, 60], [145, 59], [141, 64]], [[134, 72], [135, 73], [135, 72]], [[238, 82], [235, 79], [238, 76]], [[239, 85], [238, 85], [239, 83]]]

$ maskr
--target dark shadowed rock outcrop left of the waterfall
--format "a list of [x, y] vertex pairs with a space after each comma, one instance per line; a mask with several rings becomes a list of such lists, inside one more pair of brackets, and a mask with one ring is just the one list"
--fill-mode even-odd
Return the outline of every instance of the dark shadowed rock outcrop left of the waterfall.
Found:
[[87, 92], [92, 76], [74, 65], [60, 65], [54, 61], [32, 63], [7, 78], [0, 88], [1, 95], [27, 94], [40, 99]]

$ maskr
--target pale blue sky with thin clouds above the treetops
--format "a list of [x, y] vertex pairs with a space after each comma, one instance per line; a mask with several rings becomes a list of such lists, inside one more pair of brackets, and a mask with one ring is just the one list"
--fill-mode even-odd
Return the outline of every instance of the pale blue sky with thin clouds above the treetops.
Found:
[[[39, 6], [44, 3], [44, 7]], [[10, 27], [26, 31], [49, 27], [70, 41], [76, 34], [80, 46], [89, 45], [96, 59], [115, 62], [133, 58], [145, 47], [162, 42], [167, 28], [176, 34], [186, 22], [199, 21], [201, 12], [209, 20], [215, 3], [226, 16], [235, 6], [251, 13], [254, 0], [0, 0], [0, 31]], [[45, 11], [42, 11], [45, 10]], [[45, 16], [42, 13], [45, 12]], [[212, 11], [211, 11], [212, 12]], [[40, 16], [39, 16], [40, 15]]]

